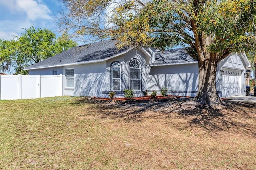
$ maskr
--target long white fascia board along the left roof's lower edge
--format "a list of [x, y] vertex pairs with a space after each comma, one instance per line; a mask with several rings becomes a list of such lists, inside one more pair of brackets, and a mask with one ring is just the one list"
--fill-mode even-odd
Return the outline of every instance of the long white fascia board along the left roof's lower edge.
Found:
[[110, 57], [104, 58], [104, 59], [96, 59], [96, 60], [90, 60], [90, 61], [81, 61], [81, 62], [76, 62], [76, 63], [66, 63], [66, 64], [59, 64], [59, 65], [52, 65], [52, 66], [46, 66], [46, 67], [35, 67], [35, 68], [31, 68], [31, 69], [24, 69], [24, 70], [34, 70], [34, 69], [46, 69], [46, 68], [53, 68], [53, 67], [64, 67], [64, 66], [71, 66], [71, 65], [81, 65], [81, 64], [89, 64], [89, 63], [100, 63], [103, 61], [106, 61], [108, 59], [112, 59], [114, 57], [118, 57], [120, 55], [123, 55], [125, 53], [128, 53], [130, 50], [134, 49], [134, 47], [131, 47], [129, 49], [127, 49], [126, 51], [123, 51], [121, 53], [112, 55]]

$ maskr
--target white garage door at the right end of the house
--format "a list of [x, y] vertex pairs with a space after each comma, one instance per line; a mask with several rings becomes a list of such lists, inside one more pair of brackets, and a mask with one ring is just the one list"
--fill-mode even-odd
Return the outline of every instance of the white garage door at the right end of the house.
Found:
[[223, 69], [222, 97], [241, 95], [241, 70]]

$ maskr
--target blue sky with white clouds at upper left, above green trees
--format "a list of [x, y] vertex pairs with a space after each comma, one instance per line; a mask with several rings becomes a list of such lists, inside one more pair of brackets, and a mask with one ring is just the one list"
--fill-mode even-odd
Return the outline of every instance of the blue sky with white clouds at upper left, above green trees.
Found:
[[54, 14], [63, 6], [59, 0], [0, 0], [0, 39], [10, 40], [34, 25], [60, 36]]

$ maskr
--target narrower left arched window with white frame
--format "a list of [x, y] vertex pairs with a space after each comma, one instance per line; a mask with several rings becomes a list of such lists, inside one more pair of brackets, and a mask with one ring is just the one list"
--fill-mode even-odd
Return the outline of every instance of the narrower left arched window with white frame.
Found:
[[120, 91], [121, 86], [121, 65], [118, 62], [112, 64], [112, 91]]

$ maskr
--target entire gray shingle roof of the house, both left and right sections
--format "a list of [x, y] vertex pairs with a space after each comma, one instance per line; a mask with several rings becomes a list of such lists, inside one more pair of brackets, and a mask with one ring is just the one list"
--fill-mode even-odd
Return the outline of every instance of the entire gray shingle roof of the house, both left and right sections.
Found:
[[[80, 45], [63, 51], [62, 53], [54, 55], [53, 57], [50, 57], [44, 61], [30, 65], [25, 69], [54, 67], [70, 63], [105, 59], [128, 49], [128, 47], [118, 49], [116, 46], [117, 43], [118, 40], [104, 40], [86, 45]], [[162, 51], [156, 52], [155, 61], [150, 65], [186, 63], [190, 61], [196, 60], [187, 53], [186, 48], [168, 49], [163, 53]]]

